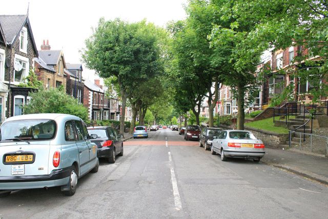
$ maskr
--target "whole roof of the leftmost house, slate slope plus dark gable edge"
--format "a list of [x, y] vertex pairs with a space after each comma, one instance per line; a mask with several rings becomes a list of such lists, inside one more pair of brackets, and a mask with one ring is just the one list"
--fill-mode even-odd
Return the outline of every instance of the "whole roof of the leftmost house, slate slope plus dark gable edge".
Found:
[[24, 15], [0, 15], [0, 24], [4, 33], [4, 37], [6, 40], [6, 44], [10, 45], [11, 47], [15, 43], [16, 39], [19, 36], [20, 31], [22, 28], [27, 24], [30, 37], [33, 45], [34, 52], [37, 54], [36, 45], [34, 42], [34, 36], [32, 33], [31, 24], [29, 21], [29, 17], [27, 14]]

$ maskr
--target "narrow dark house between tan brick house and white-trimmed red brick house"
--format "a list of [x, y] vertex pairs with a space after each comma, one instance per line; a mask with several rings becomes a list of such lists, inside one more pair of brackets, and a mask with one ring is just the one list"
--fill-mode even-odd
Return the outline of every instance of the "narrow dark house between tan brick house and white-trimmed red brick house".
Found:
[[78, 100], [78, 103], [84, 103], [85, 80], [82, 77], [82, 65], [66, 63], [66, 93]]

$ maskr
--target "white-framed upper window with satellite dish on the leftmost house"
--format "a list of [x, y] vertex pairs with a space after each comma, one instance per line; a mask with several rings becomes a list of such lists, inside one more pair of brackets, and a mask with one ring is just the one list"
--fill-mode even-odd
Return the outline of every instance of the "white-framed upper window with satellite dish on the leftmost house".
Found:
[[29, 75], [29, 59], [24, 56], [15, 54], [14, 60], [14, 82], [17, 84], [24, 83], [25, 78]]

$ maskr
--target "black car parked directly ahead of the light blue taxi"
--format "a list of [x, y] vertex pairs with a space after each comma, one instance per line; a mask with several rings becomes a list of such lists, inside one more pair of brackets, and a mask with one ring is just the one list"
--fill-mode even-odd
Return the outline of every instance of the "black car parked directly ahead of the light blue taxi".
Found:
[[98, 158], [106, 158], [108, 163], [115, 163], [116, 156], [123, 156], [122, 135], [110, 126], [88, 127], [91, 142], [98, 147]]

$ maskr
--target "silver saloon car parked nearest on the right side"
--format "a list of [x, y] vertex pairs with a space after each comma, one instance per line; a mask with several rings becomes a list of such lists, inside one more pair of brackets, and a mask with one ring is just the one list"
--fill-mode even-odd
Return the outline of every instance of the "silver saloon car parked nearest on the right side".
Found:
[[219, 153], [222, 161], [228, 157], [252, 158], [258, 163], [265, 154], [264, 144], [252, 132], [224, 130], [212, 142], [212, 154]]

